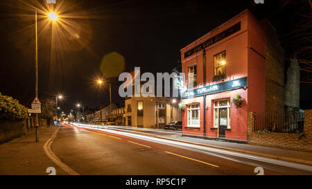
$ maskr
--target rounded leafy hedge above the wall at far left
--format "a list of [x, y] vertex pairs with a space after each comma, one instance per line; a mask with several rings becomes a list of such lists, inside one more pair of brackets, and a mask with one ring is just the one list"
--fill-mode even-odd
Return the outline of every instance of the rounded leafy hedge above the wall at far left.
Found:
[[0, 93], [0, 120], [25, 120], [27, 115], [27, 108], [19, 100]]

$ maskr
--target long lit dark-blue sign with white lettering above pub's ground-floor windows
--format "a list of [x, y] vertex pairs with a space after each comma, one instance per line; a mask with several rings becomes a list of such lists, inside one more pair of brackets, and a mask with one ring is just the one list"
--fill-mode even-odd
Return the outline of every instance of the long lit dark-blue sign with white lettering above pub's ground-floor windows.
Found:
[[241, 87], [247, 87], [247, 77], [236, 80], [229, 80], [227, 82], [220, 82], [218, 84], [211, 84], [209, 86], [201, 87], [192, 91], [186, 91], [181, 93], [181, 96], [182, 98], [192, 98], [212, 93], [219, 93], [222, 91], [229, 91], [232, 89], [239, 89]]

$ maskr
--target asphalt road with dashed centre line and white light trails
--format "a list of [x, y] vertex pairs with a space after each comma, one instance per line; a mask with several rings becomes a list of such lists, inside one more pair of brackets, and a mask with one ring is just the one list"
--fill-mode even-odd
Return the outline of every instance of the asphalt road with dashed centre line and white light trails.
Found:
[[125, 134], [114, 129], [64, 125], [51, 150], [78, 174], [311, 174], [261, 159], [181, 145], [148, 136]]

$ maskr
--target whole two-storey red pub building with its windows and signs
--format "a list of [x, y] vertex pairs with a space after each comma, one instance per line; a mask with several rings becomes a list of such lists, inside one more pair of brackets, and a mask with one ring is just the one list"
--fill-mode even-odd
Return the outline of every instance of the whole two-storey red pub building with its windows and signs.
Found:
[[267, 108], [264, 28], [244, 10], [181, 49], [184, 136], [247, 141], [248, 112]]

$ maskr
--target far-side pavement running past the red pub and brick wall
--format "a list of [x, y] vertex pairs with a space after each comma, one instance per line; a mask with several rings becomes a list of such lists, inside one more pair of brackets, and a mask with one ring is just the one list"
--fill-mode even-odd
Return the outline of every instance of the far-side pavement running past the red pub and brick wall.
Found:
[[[141, 130], [144, 130], [143, 128], [140, 128]], [[125, 132], [132, 132], [130, 130], [127, 130]], [[138, 134], [137, 131], [134, 131], [135, 134]], [[285, 150], [275, 147], [262, 147], [257, 145], [248, 145], [243, 143], [230, 143], [226, 141], [214, 141], [209, 139], [202, 139], [202, 138], [193, 138], [189, 136], [182, 136], [182, 133], [176, 133], [176, 134], [162, 134], [159, 131], [159, 134], [157, 134], [157, 131], [150, 133], [147, 129], [146, 132], [141, 132], [141, 134], [147, 135], [147, 136], [153, 136], [157, 138], [164, 138], [169, 139], [173, 141], [180, 141], [184, 143], [192, 143], [192, 144], [198, 144], [198, 145], [205, 145], [207, 147], [214, 147], [221, 150], [231, 150], [233, 152], [242, 152], [245, 154], [252, 154], [257, 156], [264, 156], [272, 159], [280, 159], [284, 161], [291, 161], [293, 163], [300, 163], [305, 165], [312, 165], [312, 153], [311, 152], [302, 152], [302, 151], [296, 151], [296, 150]]]

